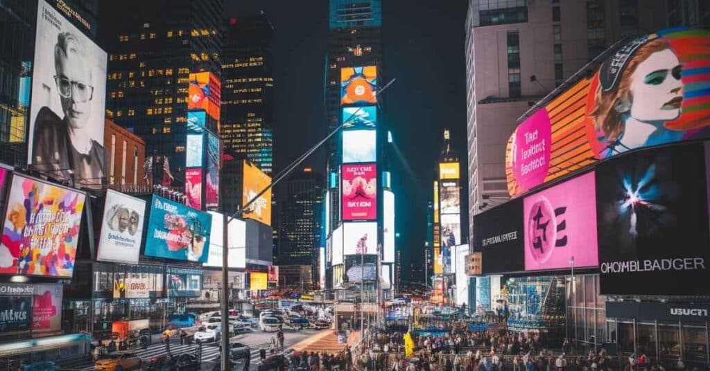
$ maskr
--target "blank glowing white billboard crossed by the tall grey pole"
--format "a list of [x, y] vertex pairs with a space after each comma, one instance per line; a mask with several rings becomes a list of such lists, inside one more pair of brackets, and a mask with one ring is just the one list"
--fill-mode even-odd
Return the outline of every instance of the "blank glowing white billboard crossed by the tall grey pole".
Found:
[[[223, 240], [224, 240], [224, 215], [215, 211], [207, 211], [212, 216], [212, 228], [209, 233], [209, 256], [205, 267], [222, 267]], [[246, 267], [246, 223], [237, 218], [229, 222], [227, 228], [227, 243], [229, 255], [227, 265], [230, 268]]]

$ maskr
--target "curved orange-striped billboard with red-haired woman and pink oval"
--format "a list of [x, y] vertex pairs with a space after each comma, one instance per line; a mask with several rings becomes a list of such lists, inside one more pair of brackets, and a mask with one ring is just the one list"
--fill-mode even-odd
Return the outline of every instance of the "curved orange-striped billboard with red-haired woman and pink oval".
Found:
[[710, 32], [689, 28], [623, 45], [510, 136], [510, 195], [628, 150], [710, 137], [708, 55]]

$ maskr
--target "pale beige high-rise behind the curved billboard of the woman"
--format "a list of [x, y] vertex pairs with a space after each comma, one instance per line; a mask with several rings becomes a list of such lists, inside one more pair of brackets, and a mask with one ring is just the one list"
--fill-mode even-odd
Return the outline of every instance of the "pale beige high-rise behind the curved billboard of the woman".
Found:
[[687, 16], [670, 3], [679, 1], [469, 0], [469, 233], [473, 215], [509, 197], [506, 144], [518, 118], [618, 40], [673, 24], [658, 9]]

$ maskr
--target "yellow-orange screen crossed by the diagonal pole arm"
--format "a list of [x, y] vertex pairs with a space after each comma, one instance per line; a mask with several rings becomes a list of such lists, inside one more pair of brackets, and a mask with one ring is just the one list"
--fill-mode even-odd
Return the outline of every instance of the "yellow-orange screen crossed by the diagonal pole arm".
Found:
[[[251, 201], [263, 189], [271, 184], [271, 177], [259, 170], [258, 167], [244, 161], [244, 187], [241, 196], [242, 206]], [[250, 218], [271, 226], [271, 190], [265, 192], [244, 211], [244, 218]]]

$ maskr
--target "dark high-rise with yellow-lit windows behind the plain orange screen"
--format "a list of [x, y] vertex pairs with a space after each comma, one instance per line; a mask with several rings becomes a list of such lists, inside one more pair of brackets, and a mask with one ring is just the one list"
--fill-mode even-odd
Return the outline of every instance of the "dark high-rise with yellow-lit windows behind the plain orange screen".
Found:
[[230, 18], [222, 55], [225, 150], [244, 154], [263, 172], [273, 167], [273, 26], [266, 15]]

